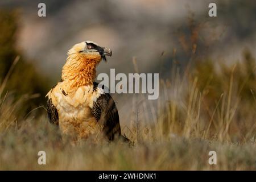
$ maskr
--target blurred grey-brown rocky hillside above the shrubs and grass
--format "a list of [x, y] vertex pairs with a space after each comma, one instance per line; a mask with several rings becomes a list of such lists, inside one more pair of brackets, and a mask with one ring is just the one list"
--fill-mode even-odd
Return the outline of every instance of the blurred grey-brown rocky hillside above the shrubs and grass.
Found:
[[169, 68], [173, 50], [181, 65], [193, 51], [195, 57], [224, 61], [239, 59], [244, 47], [255, 52], [254, 1], [215, 1], [216, 18], [208, 16], [212, 1], [201, 0], [44, 1], [46, 18], [37, 15], [39, 2], [5, 1], [0, 6], [22, 11], [17, 47], [53, 82], [59, 80], [67, 50], [84, 40], [113, 49], [113, 57], [98, 68], [106, 73], [110, 68], [134, 72], [133, 56], [139, 71], [159, 72], [160, 66]]

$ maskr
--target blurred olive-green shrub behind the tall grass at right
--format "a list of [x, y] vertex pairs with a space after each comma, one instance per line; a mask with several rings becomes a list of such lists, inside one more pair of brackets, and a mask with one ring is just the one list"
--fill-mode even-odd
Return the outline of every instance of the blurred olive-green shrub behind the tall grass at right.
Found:
[[242, 60], [234, 65], [214, 64], [212, 60], [197, 61], [192, 77], [197, 77], [197, 86], [207, 96], [209, 104], [220, 99], [222, 93], [228, 92], [230, 78], [233, 76], [233, 87], [243, 102], [255, 104], [256, 64], [250, 51], [243, 51]]

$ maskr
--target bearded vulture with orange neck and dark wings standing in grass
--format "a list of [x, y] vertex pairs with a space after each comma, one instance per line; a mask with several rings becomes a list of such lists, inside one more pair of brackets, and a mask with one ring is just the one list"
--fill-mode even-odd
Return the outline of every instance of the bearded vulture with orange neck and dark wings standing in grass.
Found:
[[107, 88], [94, 82], [96, 67], [106, 56], [112, 51], [91, 41], [69, 49], [61, 80], [46, 95], [49, 121], [64, 135], [129, 140], [121, 135], [117, 107]]

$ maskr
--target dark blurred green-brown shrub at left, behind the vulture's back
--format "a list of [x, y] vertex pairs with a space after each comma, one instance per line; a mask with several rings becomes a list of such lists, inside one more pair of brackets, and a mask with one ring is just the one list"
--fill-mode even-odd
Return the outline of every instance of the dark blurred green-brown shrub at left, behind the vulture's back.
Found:
[[10, 70], [16, 56], [20, 56], [15, 65], [3, 94], [14, 92], [16, 99], [24, 94], [39, 93], [40, 97], [30, 100], [27, 109], [34, 108], [44, 103], [44, 95], [47, 92], [47, 80], [40, 75], [32, 63], [27, 60], [22, 52], [15, 48], [19, 29], [19, 13], [16, 10], [0, 11], [0, 85]]

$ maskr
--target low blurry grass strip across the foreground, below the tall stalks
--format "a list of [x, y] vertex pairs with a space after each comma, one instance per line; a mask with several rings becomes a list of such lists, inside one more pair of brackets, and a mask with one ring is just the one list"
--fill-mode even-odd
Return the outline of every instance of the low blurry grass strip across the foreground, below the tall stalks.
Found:
[[[38, 164], [38, 151], [46, 151], [46, 165]], [[217, 165], [208, 153], [217, 152]], [[162, 142], [142, 142], [130, 147], [121, 142], [72, 146], [61, 140], [47, 118], [28, 119], [20, 129], [0, 138], [0, 169], [103, 169], [103, 170], [241, 170], [256, 169], [255, 142], [220, 143], [175, 137]]]

